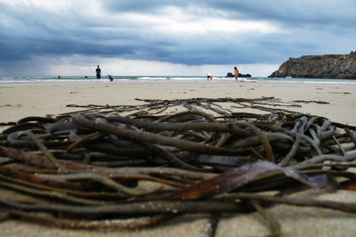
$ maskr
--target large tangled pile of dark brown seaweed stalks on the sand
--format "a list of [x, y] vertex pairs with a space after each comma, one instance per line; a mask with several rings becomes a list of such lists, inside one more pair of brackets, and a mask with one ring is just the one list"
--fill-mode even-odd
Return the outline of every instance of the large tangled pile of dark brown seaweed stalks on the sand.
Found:
[[[2, 124], [1, 221], [137, 228], [204, 213], [214, 236], [221, 214], [258, 211], [278, 235], [268, 206], [356, 212], [356, 204], [288, 198], [295, 186], [355, 189], [347, 169], [356, 165], [356, 128], [282, 108], [318, 101], [141, 101], [68, 105], [84, 110]], [[258, 112], [236, 112], [246, 109]]]

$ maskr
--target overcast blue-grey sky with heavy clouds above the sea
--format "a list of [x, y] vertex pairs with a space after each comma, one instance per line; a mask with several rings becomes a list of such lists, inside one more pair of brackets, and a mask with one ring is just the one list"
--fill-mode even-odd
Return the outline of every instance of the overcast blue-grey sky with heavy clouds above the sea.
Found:
[[356, 50], [355, 0], [0, 0], [0, 76], [267, 76]]

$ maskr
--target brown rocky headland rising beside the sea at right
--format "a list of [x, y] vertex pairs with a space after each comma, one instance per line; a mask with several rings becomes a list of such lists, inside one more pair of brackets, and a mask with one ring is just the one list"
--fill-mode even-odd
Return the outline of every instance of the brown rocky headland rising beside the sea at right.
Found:
[[289, 58], [268, 78], [356, 79], [356, 52]]

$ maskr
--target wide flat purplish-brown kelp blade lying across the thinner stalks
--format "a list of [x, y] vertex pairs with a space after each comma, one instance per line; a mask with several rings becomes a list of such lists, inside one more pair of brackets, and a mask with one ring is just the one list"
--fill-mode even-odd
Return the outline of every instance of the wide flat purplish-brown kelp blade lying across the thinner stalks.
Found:
[[271, 162], [256, 162], [253, 164], [246, 164], [236, 169], [230, 169], [212, 179], [193, 184], [192, 186], [179, 191], [177, 194], [172, 194], [171, 196], [162, 199], [201, 199], [207, 196], [214, 196], [248, 184], [248, 182], [252, 181], [259, 174], [273, 171], [283, 172], [287, 177], [296, 179], [303, 184], [307, 184], [316, 189], [339, 188], [337, 181], [323, 174], [315, 177], [308, 177], [302, 172], [286, 169]]

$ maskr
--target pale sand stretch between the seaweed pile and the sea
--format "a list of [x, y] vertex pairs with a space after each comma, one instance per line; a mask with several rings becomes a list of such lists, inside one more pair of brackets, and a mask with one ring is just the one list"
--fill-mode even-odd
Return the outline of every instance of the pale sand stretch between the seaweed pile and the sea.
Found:
[[44, 116], [80, 110], [66, 105], [141, 105], [139, 99], [261, 98], [288, 102], [315, 100], [328, 105], [303, 103], [298, 112], [328, 117], [334, 122], [356, 125], [356, 83], [235, 83], [204, 82], [119, 82], [0, 85], [1, 122], [26, 116]]

